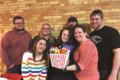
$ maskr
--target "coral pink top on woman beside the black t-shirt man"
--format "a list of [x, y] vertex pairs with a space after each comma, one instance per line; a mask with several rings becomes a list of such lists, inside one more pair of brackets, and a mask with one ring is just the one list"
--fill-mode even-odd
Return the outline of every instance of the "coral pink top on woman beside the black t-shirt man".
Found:
[[98, 51], [90, 39], [80, 45], [74, 53], [74, 61], [78, 63], [81, 71], [75, 71], [79, 80], [99, 80]]

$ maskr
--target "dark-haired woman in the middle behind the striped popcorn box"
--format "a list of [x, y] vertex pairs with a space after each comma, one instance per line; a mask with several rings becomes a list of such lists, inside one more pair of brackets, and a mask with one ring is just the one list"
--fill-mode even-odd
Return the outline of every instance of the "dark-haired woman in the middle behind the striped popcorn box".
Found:
[[[63, 28], [57, 38], [56, 42], [53, 42], [50, 47], [58, 47], [58, 48], [66, 48], [70, 50], [70, 56], [69, 56], [69, 64], [73, 64], [73, 41], [72, 41], [72, 33], [70, 31], [70, 28], [66, 27]], [[50, 65], [48, 69], [48, 80], [74, 80], [74, 73], [73, 71], [64, 72], [62, 70], [56, 69]]]

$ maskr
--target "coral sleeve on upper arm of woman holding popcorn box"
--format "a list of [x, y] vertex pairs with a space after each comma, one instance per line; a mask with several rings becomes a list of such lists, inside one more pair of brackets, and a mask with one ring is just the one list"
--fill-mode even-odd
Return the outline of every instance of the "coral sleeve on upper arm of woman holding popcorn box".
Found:
[[86, 45], [81, 46], [81, 48], [79, 48], [78, 52], [80, 53], [80, 57], [78, 59], [78, 65], [81, 70], [84, 70], [88, 66], [92, 59], [95, 49], [96, 47], [92, 43], [87, 43]]

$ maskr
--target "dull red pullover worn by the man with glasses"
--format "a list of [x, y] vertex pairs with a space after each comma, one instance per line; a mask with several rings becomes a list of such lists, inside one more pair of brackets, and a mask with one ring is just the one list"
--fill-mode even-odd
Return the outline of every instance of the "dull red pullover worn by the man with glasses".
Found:
[[32, 37], [24, 30], [21, 34], [15, 29], [5, 33], [1, 39], [1, 58], [2, 62], [10, 67], [12, 64], [20, 65], [23, 53], [28, 50]]

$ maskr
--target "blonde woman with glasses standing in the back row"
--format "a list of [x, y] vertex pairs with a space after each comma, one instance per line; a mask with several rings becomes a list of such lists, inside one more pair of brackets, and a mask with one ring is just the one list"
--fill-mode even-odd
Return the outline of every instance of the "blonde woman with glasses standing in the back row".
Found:
[[51, 43], [55, 42], [55, 37], [52, 36], [51, 26], [48, 23], [42, 25], [41, 31], [37, 36], [35, 36], [30, 42], [29, 49], [33, 48], [33, 45], [37, 38], [45, 38], [47, 40], [47, 45], [49, 46]]

